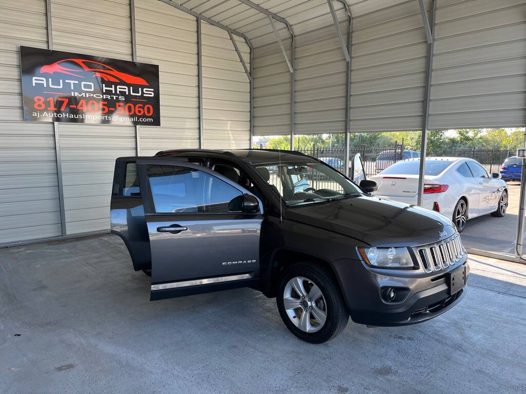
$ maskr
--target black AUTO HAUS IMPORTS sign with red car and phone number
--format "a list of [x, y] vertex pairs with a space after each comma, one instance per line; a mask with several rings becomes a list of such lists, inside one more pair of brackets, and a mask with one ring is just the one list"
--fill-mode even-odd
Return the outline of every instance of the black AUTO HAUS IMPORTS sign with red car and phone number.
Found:
[[160, 126], [159, 66], [20, 47], [24, 120]]

